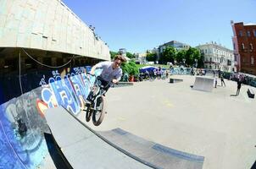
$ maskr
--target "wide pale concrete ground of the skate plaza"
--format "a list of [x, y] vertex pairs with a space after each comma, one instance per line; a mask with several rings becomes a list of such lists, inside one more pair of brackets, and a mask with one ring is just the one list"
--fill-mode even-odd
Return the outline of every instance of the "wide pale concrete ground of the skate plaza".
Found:
[[[191, 89], [195, 76], [171, 78], [184, 81], [154, 80], [110, 89], [103, 123], [86, 124], [98, 131], [122, 128], [172, 149], [203, 155], [204, 169], [253, 166], [256, 98], [248, 98], [249, 86], [242, 85], [240, 95], [232, 96], [237, 90], [233, 81], [225, 79], [226, 87], [203, 92]], [[85, 121], [83, 113], [81, 117]]]

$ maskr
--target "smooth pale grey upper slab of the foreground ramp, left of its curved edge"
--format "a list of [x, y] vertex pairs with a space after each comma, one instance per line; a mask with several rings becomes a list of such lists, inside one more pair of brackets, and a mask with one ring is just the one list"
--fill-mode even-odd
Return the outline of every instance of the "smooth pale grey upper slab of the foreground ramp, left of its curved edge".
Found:
[[73, 168], [151, 168], [100, 139], [63, 107], [47, 109], [53, 137]]

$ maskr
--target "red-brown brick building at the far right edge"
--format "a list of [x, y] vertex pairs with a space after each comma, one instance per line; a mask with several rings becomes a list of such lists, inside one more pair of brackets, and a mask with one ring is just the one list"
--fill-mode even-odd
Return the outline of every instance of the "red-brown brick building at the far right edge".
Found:
[[237, 71], [256, 75], [256, 24], [231, 21], [232, 37]]

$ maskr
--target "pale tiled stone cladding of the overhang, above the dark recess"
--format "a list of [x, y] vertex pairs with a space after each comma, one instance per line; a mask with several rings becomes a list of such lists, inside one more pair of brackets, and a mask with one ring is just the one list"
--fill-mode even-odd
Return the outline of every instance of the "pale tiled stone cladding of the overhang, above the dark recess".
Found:
[[105, 42], [60, 0], [0, 0], [0, 47], [110, 60]]

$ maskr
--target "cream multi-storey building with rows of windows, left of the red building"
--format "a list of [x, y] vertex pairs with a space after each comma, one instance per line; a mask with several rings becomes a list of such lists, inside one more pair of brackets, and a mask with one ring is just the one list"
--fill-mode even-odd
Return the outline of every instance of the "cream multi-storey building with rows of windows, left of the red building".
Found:
[[234, 54], [228, 48], [210, 42], [196, 46], [204, 57], [204, 68], [211, 70], [221, 70], [225, 72], [236, 71]]

